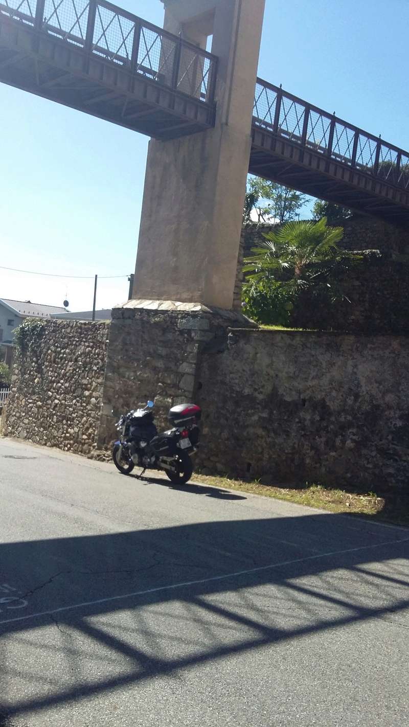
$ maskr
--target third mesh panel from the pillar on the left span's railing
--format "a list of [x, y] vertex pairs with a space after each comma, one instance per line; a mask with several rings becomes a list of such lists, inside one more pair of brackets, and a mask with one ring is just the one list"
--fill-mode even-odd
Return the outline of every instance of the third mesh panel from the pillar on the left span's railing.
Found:
[[92, 38], [93, 51], [108, 56], [116, 63], [130, 63], [134, 29], [133, 20], [98, 4]]

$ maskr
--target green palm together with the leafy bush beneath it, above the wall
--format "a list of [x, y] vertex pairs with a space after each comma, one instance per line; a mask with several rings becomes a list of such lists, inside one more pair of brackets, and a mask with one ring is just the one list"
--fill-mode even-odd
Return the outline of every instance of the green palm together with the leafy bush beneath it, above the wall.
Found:
[[339, 298], [331, 271], [352, 257], [339, 249], [343, 234], [341, 227], [328, 228], [324, 217], [318, 222], [287, 222], [264, 235], [265, 241], [244, 261], [244, 312], [259, 323], [286, 325], [304, 289], [324, 286], [331, 300]]

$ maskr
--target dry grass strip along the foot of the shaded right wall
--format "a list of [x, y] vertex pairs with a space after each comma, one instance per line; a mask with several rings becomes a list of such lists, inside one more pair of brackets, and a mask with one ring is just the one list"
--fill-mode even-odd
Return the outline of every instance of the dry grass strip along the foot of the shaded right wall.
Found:
[[349, 515], [364, 515], [374, 520], [409, 526], [409, 493], [402, 491], [387, 491], [360, 493], [346, 491], [329, 486], [306, 483], [301, 487], [276, 487], [262, 485], [257, 481], [245, 482], [229, 477], [211, 475], [193, 475], [198, 483], [214, 487], [238, 490], [262, 497], [294, 502], [296, 505], [308, 505], [329, 510], [331, 513], [348, 513]]

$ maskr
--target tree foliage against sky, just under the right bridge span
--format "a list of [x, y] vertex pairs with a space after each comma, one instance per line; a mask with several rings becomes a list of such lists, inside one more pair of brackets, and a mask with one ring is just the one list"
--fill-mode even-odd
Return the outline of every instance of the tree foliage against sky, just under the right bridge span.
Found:
[[259, 222], [289, 222], [298, 217], [299, 210], [306, 204], [307, 197], [296, 190], [278, 184], [250, 177], [247, 185], [243, 220], [251, 221], [251, 212], [256, 212]]

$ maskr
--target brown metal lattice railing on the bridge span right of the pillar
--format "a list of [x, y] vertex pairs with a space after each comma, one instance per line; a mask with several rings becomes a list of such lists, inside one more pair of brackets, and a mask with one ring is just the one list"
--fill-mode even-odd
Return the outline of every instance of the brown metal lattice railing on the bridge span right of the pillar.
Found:
[[378, 180], [409, 189], [409, 152], [257, 79], [253, 123]]

